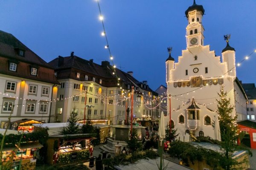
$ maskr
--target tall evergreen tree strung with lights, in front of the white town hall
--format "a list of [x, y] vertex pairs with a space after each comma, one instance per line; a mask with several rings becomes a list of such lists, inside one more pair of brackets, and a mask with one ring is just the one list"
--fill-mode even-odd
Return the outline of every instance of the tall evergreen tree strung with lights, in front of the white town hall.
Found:
[[221, 149], [224, 151], [224, 159], [221, 160], [225, 169], [230, 170], [233, 165], [238, 164], [234, 159], [233, 153], [237, 148], [236, 140], [238, 127], [236, 124], [237, 115], [232, 115], [234, 106], [230, 105], [230, 98], [227, 98], [227, 92], [224, 92], [224, 87], [221, 86], [220, 99], [217, 99], [218, 105], [216, 112], [218, 113], [218, 119], [221, 131]]

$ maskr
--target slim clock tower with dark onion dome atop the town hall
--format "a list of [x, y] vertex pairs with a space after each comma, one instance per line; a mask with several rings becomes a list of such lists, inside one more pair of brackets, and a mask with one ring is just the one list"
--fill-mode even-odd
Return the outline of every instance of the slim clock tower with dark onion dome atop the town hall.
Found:
[[204, 8], [201, 5], [194, 3], [185, 11], [188, 26], [186, 27], [186, 44], [187, 48], [197, 45], [204, 45], [204, 27], [202, 25], [202, 18], [204, 15]]

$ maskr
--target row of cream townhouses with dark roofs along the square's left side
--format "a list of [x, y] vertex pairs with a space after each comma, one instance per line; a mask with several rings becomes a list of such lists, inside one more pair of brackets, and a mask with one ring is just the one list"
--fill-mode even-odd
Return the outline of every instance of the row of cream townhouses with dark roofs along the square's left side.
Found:
[[81, 121], [89, 115], [92, 121], [124, 124], [127, 107], [131, 116], [132, 88], [134, 122], [160, 115], [159, 96], [147, 81], [138, 81], [133, 72], [113, 68], [108, 61], [99, 65], [72, 52], [47, 63], [12, 34], [0, 31], [0, 65], [1, 127], [10, 116], [11, 122], [67, 122], [72, 111]]

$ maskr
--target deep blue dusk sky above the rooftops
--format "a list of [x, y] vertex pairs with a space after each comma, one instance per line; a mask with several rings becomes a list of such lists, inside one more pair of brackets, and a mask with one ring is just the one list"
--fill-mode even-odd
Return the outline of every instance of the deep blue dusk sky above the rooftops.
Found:
[[[177, 62], [186, 49], [186, 9], [193, 0], [99, 0], [113, 62], [122, 71], [133, 71], [156, 90], [166, 85], [165, 61], [172, 46]], [[217, 56], [230, 46], [236, 61], [256, 49], [256, 0], [196, 0], [203, 5], [204, 45]], [[109, 59], [96, 0], [2, 0], [0, 30], [13, 34], [45, 61], [60, 56]], [[256, 82], [256, 53], [237, 67], [243, 83]]]

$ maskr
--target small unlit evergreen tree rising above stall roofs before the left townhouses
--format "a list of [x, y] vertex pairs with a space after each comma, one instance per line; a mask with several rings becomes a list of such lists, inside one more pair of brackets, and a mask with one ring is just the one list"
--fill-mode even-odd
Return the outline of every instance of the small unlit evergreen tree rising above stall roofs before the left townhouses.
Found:
[[68, 118], [68, 124], [66, 127], [63, 128], [62, 134], [76, 134], [80, 132], [79, 124], [77, 123], [77, 113], [74, 112], [75, 109], [70, 113]]

